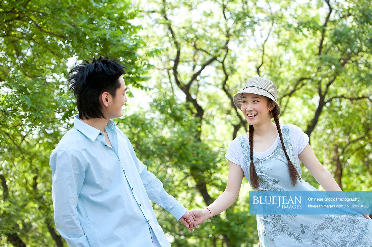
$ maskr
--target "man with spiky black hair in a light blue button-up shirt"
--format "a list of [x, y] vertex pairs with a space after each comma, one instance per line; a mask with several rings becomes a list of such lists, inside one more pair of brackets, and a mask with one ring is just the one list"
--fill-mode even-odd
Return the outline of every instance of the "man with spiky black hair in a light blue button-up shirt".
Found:
[[69, 73], [79, 114], [50, 156], [55, 225], [69, 246], [170, 246], [150, 200], [196, 227], [110, 120], [127, 101], [124, 73], [107, 57]]

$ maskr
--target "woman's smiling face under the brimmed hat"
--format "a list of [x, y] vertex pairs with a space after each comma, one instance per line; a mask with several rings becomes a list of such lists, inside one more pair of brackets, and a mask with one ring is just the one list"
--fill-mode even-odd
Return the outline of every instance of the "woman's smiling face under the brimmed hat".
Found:
[[[275, 102], [269, 106], [268, 98], [254, 93], [243, 93], [241, 111], [250, 125], [257, 124], [263, 119], [270, 118], [270, 110], [275, 107]], [[265, 120], [266, 121], [266, 120]], [[271, 120], [270, 120], [271, 121]]]

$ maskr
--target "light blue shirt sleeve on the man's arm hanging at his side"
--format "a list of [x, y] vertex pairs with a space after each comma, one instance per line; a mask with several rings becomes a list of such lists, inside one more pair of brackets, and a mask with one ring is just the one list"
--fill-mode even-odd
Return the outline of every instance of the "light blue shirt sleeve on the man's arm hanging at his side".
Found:
[[77, 214], [77, 200], [84, 182], [84, 167], [70, 152], [54, 151], [49, 159], [52, 170], [52, 200], [57, 231], [68, 246], [90, 246]]

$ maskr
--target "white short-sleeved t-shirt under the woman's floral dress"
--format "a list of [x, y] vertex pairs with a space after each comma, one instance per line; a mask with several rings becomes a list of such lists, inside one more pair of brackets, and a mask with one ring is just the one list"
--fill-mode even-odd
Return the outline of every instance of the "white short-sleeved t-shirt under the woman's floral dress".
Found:
[[[280, 128], [282, 127], [283, 125], [280, 125]], [[298, 154], [301, 154], [305, 146], [309, 143], [309, 137], [307, 136], [307, 134], [304, 133], [304, 131], [302, 131], [301, 128], [299, 128], [296, 125], [288, 124], [288, 128], [289, 128], [289, 136], [291, 137], [291, 141], [292, 141], [293, 152], [296, 157], [297, 165], [299, 166], [300, 161], [298, 159]], [[244, 138], [246, 139], [247, 144], [249, 146], [248, 134], [244, 134]], [[278, 134], [278, 136], [276, 136], [276, 139], [273, 145], [271, 145], [269, 149], [267, 149], [265, 152], [256, 152], [253, 149], [253, 156], [259, 159], [263, 159], [267, 157], [268, 155], [270, 155], [274, 151], [274, 149], [278, 146], [279, 143], [280, 143], [280, 138]], [[227, 152], [225, 154], [225, 158], [237, 165], [240, 165], [240, 166], [246, 165], [238, 137], [232, 140], [232, 142], [230, 143], [227, 149]]]

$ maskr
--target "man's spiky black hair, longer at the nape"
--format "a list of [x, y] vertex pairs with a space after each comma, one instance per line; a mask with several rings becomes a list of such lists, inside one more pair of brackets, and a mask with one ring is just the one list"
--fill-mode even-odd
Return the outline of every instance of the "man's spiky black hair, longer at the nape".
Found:
[[108, 92], [113, 97], [120, 88], [119, 77], [125, 74], [124, 69], [116, 60], [109, 57], [93, 57], [92, 63], [83, 63], [70, 70], [68, 75], [69, 89], [74, 93], [80, 119], [105, 118], [99, 96]]

